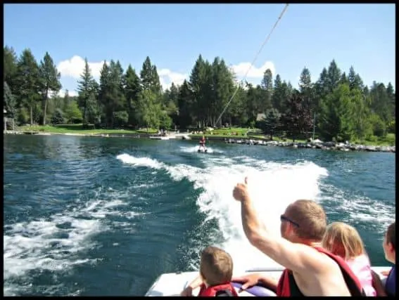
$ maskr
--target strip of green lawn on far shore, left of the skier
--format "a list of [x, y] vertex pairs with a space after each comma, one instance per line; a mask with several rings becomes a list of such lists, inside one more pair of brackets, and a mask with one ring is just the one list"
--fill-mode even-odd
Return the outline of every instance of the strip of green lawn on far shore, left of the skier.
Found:
[[[82, 129], [82, 124], [60, 124], [46, 126], [20, 126], [18, 131], [38, 131], [49, 133], [82, 133], [82, 134], [101, 134], [101, 133], [147, 133], [146, 129]], [[148, 133], [157, 133], [157, 129], [148, 129]]]

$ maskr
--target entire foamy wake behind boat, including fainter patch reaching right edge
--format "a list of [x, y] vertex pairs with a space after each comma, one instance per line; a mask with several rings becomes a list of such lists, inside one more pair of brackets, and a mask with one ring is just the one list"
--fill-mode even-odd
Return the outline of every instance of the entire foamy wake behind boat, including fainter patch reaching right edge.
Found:
[[[187, 151], [195, 150], [196, 147], [187, 148]], [[134, 158], [129, 158], [125, 162], [130, 159], [135, 161]], [[203, 193], [196, 200], [198, 208], [207, 214], [207, 220], [217, 220], [225, 240], [219, 246], [232, 255], [234, 268], [238, 273], [250, 268], [277, 266], [277, 263], [267, 259], [267, 256], [251, 246], [243, 233], [240, 205], [234, 201], [232, 190], [245, 176], [248, 176], [248, 188], [260, 218], [275, 235], [280, 234], [279, 216], [290, 203], [298, 199], [312, 199], [321, 203], [324, 200], [332, 200], [336, 202], [338, 209], [350, 214], [350, 220], [342, 221], [366, 221], [381, 233], [395, 218], [395, 208], [384, 202], [346, 195], [338, 188], [326, 187], [324, 183], [323, 188], [327, 188], [334, 198], [322, 195], [319, 180], [328, 176], [328, 171], [312, 162], [288, 164], [245, 156], [203, 156], [203, 162], [207, 167], [200, 169], [186, 164], [168, 166], [156, 159], [150, 160], [151, 163], [147, 160], [142, 162], [145, 162], [147, 167], [162, 165], [173, 180], [180, 181], [186, 178], [194, 183], [194, 188], [203, 188]], [[333, 214], [334, 211], [330, 213]], [[196, 249], [196, 252], [200, 251], [201, 249]], [[198, 261], [192, 261], [191, 266], [198, 268]]]

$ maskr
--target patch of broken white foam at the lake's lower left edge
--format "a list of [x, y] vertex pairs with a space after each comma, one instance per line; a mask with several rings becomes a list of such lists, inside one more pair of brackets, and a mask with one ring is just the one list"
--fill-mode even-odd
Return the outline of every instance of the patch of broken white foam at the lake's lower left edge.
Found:
[[[65, 222], [70, 222], [70, 229], [56, 227]], [[62, 270], [89, 261], [74, 260], [70, 254], [90, 247], [89, 236], [100, 230], [96, 220], [77, 220], [67, 216], [55, 217], [51, 221], [15, 223], [11, 227], [4, 235], [4, 279], [24, 275], [27, 270]], [[58, 237], [59, 234], [63, 237]]]

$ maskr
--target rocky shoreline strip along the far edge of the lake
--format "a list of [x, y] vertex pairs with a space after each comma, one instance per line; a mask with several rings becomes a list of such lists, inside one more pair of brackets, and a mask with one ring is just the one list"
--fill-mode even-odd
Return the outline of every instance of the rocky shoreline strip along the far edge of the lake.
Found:
[[[167, 139], [167, 140], [189, 140], [198, 138], [197, 134], [177, 133], [160, 136], [155, 133], [53, 133], [45, 131], [4, 131], [5, 134], [25, 134], [34, 136], [96, 136], [102, 138], [148, 138], [148, 139]], [[246, 145], [266, 145], [289, 148], [308, 148], [320, 150], [338, 150], [344, 152], [396, 152], [395, 146], [381, 145], [357, 145], [351, 143], [335, 142], [289, 142], [289, 141], [265, 141], [265, 139], [252, 136], [212, 136], [205, 135], [209, 141], [219, 141], [233, 144]]]

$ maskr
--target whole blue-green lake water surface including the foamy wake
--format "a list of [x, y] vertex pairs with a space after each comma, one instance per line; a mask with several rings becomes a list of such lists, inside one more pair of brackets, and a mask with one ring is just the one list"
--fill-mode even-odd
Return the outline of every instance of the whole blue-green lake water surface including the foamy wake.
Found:
[[[4, 294], [144, 295], [161, 273], [226, 249], [236, 270], [275, 263], [246, 240], [232, 189], [279, 216], [315, 199], [360, 232], [374, 266], [395, 220], [395, 154], [78, 136], [4, 136]], [[245, 255], [243, 255], [245, 254]]]

